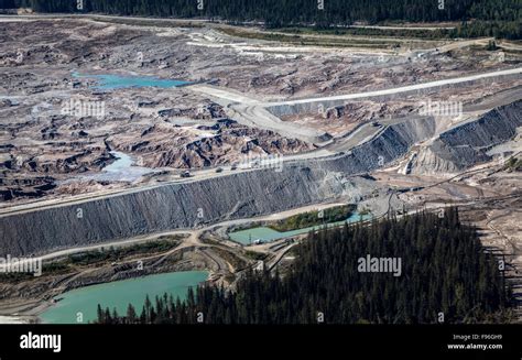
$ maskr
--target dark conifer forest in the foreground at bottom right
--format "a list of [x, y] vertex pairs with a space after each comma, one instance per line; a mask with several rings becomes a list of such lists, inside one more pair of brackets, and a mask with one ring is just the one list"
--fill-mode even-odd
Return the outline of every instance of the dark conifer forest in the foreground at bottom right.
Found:
[[[360, 258], [401, 258], [400, 276], [359, 272]], [[458, 211], [443, 218], [418, 214], [370, 226], [346, 225], [311, 233], [296, 249], [292, 270], [280, 276], [249, 272], [237, 288], [200, 286], [186, 301], [149, 297], [124, 316], [98, 305], [108, 324], [478, 323], [498, 319], [510, 306], [498, 261]]]

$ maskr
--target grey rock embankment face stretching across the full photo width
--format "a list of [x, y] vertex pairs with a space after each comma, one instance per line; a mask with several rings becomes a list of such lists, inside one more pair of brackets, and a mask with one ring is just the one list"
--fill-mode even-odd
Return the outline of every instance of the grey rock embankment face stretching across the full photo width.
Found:
[[[436, 154], [446, 150], [458, 166], [482, 161], [485, 149], [513, 137], [521, 124], [521, 106], [522, 101], [504, 106], [446, 131], [428, 149]], [[435, 135], [435, 119], [420, 118], [385, 127], [373, 139], [342, 155], [285, 162], [282, 168], [168, 184], [0, 217], [0, 255], [36, 254], [116, 241], [340, 198], [358, 201], [376, 188], [376, 183], [350, 175], [385, 165], [403, 156], [415, 143]]]

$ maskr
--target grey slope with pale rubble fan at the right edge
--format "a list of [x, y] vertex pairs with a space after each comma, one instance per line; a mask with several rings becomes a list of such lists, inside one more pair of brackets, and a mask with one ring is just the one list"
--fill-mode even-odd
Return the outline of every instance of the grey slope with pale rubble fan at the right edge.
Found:
[[491, 161], [487, 152], [511, 140], [522, 126], [522, 100], [493, 109], [480, 119], [443, 132], [422, 148], [413, 172], [455, 173], [481, 162]]

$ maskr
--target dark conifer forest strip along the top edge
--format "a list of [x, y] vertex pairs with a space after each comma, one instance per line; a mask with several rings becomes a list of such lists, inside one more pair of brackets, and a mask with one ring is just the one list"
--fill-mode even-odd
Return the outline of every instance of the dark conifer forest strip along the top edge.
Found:
[[260, 21], [269, 28], [459, 21], [461, 25], [453, 36], [522, 37], [520, 0], [0, 0], [0, 8], [15, 7], [39, 12]]

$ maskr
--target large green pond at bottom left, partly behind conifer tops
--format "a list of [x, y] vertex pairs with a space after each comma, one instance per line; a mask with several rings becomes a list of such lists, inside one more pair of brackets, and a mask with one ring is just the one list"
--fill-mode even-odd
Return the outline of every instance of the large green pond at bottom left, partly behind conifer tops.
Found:
[[139, 316], [146, 295], [153, 304], [156, 296], [165, 293], [174, 301], [185, 299], [189, 287], [207, 279], [206, 271], [183, 271], [80, 287], [56, 296], [57, 303], [40, 318], [44, 324], [78, 324], [77, 316], [81, 313], [81, 324], [93, 323], [97, 319], [98, 304], [104, 310], [109, 307], [112, 312], [116, 307], [119, 315], [126, 315], [128, 305], [132, 304]]

